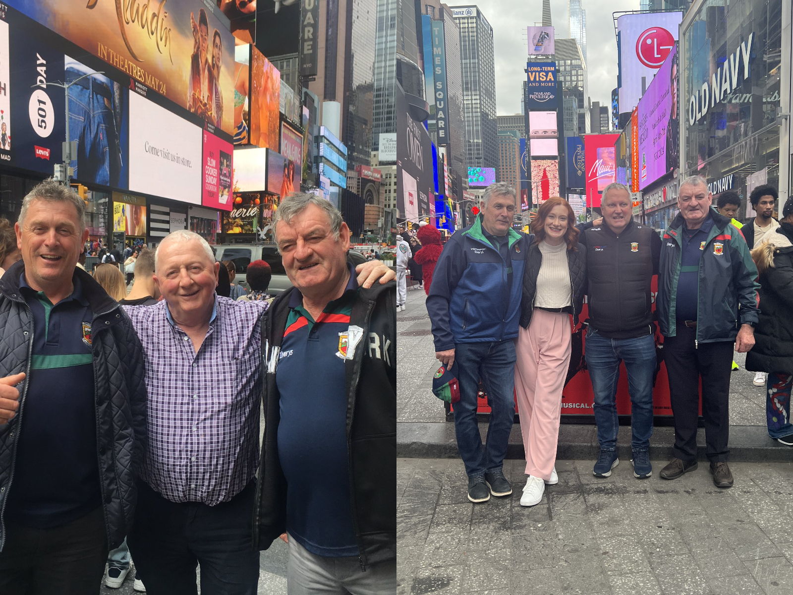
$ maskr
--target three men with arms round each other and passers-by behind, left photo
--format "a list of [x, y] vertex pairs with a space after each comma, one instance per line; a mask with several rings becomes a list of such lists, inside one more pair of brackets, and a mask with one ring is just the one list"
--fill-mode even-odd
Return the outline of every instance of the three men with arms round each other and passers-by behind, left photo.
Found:
[[289, 593], [394, 592], [394, 274], [349, 262], [313, 194], [273, 225], [292, 287], [270, 299], [258, 261], [233, 300], [187, 230], [129, 292], [117, 264], [86, 273], [84, 203], [55, 180], [0, 221], [0, 593], [98, 593], [131, 556], [151, 595], [194, 595], [197, 567], [201, 593], [253, 595], [279, 537]]

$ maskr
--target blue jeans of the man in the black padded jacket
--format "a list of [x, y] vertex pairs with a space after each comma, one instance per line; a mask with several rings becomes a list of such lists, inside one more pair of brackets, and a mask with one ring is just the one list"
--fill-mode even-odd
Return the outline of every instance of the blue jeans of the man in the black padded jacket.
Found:
[[607, 339], [590, 327], [584, 357], [595, 393], [597, 441], [603, 451], [617, 447], [617, 381], [619, 362], [625, 363], [630, 391], [630, 447], [646, 451], [653, 436], [653, 373], [655, 372], [655, 340], [653, 335], [638, 339]]

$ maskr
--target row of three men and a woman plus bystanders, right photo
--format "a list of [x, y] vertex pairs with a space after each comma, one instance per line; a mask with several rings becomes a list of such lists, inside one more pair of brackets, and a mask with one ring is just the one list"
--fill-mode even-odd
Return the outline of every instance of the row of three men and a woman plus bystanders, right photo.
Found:
[[[454, 424], [469, 500], [512, 493], [503, 463], [513, 394], [528, 475], [520, 504], [538, 504], [545, 486], [558, 481], [562, 391], [573, 329], [582, 326], [600, 445], [596, 477], [609, 477], [619, 464], [620, 363], [628, 376], [635, 478], [653, 474], [649, 440], [661, 360], [675, 427], [672, 459], [661, 478], [674, 480], [697, 468], [701, 384], [713, 482], [733, 485], [728, 440], [734, 351], [748, 352], [747, 369], [766, 386], [769, 436], [793, 446], [793, 200], [779, 209], [780, 221], [772, 217], [777, 201], [772, 186], [755, 188], [749, 204], [757, 217], [741, 226], [734, 219], [740, 198], [723, 193], [711, 205], [706, 180], [692, 176], [680, 185], [680, 212], [659, 235], [633, 221], [630, 189], [612, 183], [603, 190], [602, 218], [576, 226], [568, 202], [550, 198], [525, 234], [512, 228], [515, 190], [504, 182], [488, 186], [481, 214], [451, 236], [427, 284], [435, 356], [442, 364], [435, 377], [443, 386], [456, 379], [459, 387]], [[584, 295], [586, 320], [580, 317]], [[480, 380], [492, 409], [484, 447], [477, 424]]]

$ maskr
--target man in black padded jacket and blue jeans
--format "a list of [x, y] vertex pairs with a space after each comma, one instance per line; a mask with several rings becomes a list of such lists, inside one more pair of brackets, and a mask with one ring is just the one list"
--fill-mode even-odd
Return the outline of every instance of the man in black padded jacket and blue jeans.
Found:
[[630, 190], [614, 182], [603, 189], [603, 221], [580, 235], [587, 247], [588, 330], [584, 356], [595, 394], [600, 457], [592, 469], [607, 478], [619, 464], [616, 393], [619, 363], [625, 363], [630, 391], [630, 449], [634, 477], [649, 478], [649, 439], [653, 435], [655, 325], [650, 284], [658, 273], [661, 238], [634, 222]]

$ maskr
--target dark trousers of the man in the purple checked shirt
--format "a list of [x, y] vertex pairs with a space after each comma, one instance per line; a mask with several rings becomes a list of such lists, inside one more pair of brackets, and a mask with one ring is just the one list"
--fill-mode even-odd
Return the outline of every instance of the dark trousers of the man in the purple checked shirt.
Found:
[[196, 595], [198, 564], [203, 595], [255, 595], [255, 491], [251, 481], [232, 500], [207, 506], [171, 502], [138, 482], [135, 522], [127, 542], [148, 595]]

